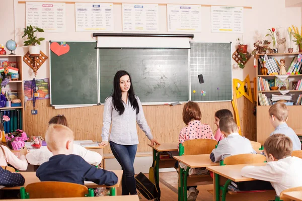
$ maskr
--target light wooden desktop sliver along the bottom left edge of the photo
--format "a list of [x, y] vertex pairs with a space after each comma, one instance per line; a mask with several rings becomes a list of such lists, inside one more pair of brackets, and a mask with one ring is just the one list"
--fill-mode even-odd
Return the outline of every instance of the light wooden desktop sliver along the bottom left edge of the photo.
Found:
[[[100, 196], [100, 197], [58, 197], [58, 198], [36, 198], [26, 199], [28, 201], [139, 201], [138, 195]], [[2, 199], [2, 201], [12, 201], [12, 199]]]

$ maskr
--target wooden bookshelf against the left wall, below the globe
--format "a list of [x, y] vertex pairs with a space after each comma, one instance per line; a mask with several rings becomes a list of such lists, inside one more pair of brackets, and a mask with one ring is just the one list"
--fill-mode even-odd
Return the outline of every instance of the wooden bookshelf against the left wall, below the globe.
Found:
[[[18, 80], [11, 80], [9, 84], [4, 87], [2, 90], [11, 89], [13, 91], [18, 92], [18, 98], [21, 100], [21, 106], [20, 107], [5, 107], [0, 108], [0, 112], [4, 111], [15, 111], [16, 109], [21, 111], [21, 121], [22, 121], [22, 129], [24, 129], [25, 121], [24, 121], [24, 82], [23, 82], [23, 71], [22, 71], [22, 65], [23, 65], [23, 56], [22, 55], [0, 55], [0, 61], [9, 61], [9, 62], [16, 62], [17, 68], [19, 69], [19, 78]], [[1, 120], [3, 117], [0, 117]]]

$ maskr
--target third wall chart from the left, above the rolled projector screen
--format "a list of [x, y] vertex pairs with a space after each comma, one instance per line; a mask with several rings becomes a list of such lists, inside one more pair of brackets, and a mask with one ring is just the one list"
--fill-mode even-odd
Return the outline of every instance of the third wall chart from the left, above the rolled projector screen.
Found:
[[158, 32], [158, 4], [123, 4], [123, 31]]

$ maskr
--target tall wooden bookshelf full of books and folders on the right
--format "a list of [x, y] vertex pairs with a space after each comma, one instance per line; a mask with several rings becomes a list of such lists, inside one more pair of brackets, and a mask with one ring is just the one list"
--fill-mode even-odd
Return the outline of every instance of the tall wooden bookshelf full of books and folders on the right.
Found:
[[[256, 58], [256, 110], [257, 110], [257, 142], [262, 145], [269, 134], [274, 130], [269, 122], [268, 110], [275, 102], [281, 100], [287, 105], [289, 113], [289, 121], [287, 124], [290, 125], [292, 122], [293, 129], [298, 128], [299, 122], [297, 117], [302, 112], [302, 62], [299, 62], [297, 56], [300, 53], [278, 53], [278, 54], [257, 54]], [[268, 73], [263, 75], [261, 67], [263, 62], [261, 59], [265, 59], [265, 67]], [[284, 81], [280, 81], [278, 77], [274, 75], [275, 72], [280, 73], [280, 60], [285, 61], [285, 70], [288, 73], [287, 78]], [[297, 74], [296, 74], [297, 72]], [[298, 72], [300, 74], [298, 74]], [[272, 74], [274, 73], [274, 74]], [[290, 73], [290, 74], [289, 74]], [[285, 76], [285, 77], [286, 77]], [[282, 77], [280, 77], [282, 78]], [[278, 85], [278, 88], [272, 90], [271, 86]], [[280, 90], [280, 86], [285, 86], [286, 90]], [[283, 88], [282, 88], [283, 89]], [[297, 104], [297, 105], [296, 105]], [[299, 104], [299, 105], [298, 105]]]

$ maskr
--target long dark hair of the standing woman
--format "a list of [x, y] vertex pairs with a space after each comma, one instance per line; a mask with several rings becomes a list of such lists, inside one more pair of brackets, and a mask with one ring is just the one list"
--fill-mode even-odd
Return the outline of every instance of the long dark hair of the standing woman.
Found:
[[133, 86], [132, 86], [132, 81], [131, 81], [131, 76], [125, 70], [119, 70], [114, 75], [113, 94], [112, 94], [114, 109], [119, 113], [119, 115], [122, 115], [125, 111], [125, 107], [124, 107], [123, 102], [122, 102], [122, 91], [121, 91], [121, 88], [120, 88], [120, 85], [119, 85], [120, 78], [124, 75], [128, 75], [129, 78], [130, 78], [131, 85], [130, 85], [130, 88], [128, 90], [128, 98], [129, 98], [129, 102], [130, 102], [131, 107], [133, 108], [133, 110], [136, 110], [136, 115], [137, 115], [139, 113], [139, 107], [138, 107], [137, 100], [135, 98], [135, 94], [134, 94], [134, 90], [133, 90]]

